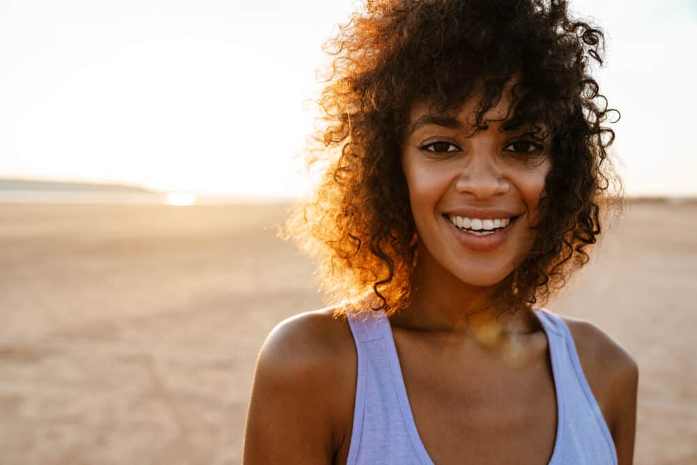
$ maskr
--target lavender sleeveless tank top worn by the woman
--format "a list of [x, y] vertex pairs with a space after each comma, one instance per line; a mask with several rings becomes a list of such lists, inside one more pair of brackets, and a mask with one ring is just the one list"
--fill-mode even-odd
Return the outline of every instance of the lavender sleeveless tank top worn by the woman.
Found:
[[[615, 444], [581, 369], [569, 328], [546, 310], [537, 309], [535, 314], [549, 344], [557, 398], [549, 465], [616, 465]], [[411, 413], [390, 321], [379, 311], [348, 317], [348, 323], [358, 352], [358, 377], [347, 465], [434, 465]]]

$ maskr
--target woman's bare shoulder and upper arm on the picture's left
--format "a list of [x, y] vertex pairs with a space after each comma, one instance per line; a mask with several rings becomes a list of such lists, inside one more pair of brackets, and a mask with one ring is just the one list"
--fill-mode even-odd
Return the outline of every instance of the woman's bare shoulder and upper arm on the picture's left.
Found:
[[332, 309], [277, 324], [256, 361], [245, 464], [327, 464], [342, 448], [355, 396], [355, 346]]

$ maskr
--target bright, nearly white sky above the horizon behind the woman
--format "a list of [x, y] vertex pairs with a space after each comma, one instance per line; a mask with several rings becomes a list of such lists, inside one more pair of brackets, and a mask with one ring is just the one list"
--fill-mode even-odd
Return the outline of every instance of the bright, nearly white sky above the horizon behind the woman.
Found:
[[[697, 195], [697, 2], [572, 0], [628, 195]], [[0, 1], [0, 177], [288, 198], [344, 0]], [[308, 109], [310, 108], [310, 109]]]

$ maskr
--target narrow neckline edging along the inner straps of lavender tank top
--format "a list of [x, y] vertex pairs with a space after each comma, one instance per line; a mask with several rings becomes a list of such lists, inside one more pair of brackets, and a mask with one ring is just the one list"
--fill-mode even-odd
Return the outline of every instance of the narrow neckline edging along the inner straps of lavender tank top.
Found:
[[[535, 315], [540, 321], [542, 330], [547, 338], [547, 346], [549, 349], [549, 357], [551, 358], [552, 367], [552, 377], [554, 381], [554, 392], [556, 394], [556, 433], [554, 439], [554, 446], [552, 449], [552, 455], [547, 462], [547, 465], [555, 465], [558, 461], [558, 455], [560, 450], [562, 450], [562, 440], [563, 440], [563, 427], [565, 415], [563, 414], [563, 402], [564, 402], [564, 392], [560, 388], [560, 360], [559, 354], [557, 353], [557, 342], [555, 340], [556, 331], [547, 318], [550, 318], [548, 313], [543, 309], [535, 309]], [[395, 345], [395, 337], [392, 334], [392, 326], [390, 325], [389, 319], [381, 311], [379, 314], [379, 319], [381, 320], [378, 324], [379, 327], [383, 328], [383, 332], [387, 337], [385, 340], [388, 344], [388, 350], [392, 353], [390, 358], [390, 369], [392, 370], [392, 379], [395, 381], [395, 389], [397, 390], [397, 397], [399, 398], [399, 405], [401, 406], [402, 414], [404, 415], [404, 421], [406, 422], [406, 429], [408, 431], [409, 439], [413, 445], [413, 448], [424, 465], [435, 465], [433, 459], [426, 450], [421, 436], [419, 435], [418, 428], [416, 427], [416, 422], [411, 411], [411, 404], [406, 392], [406, 385], [404, 383], [404, 377], [401, 374], [401, 363], [399, 362], [399, 354], [397, 353], [397, 346]]]

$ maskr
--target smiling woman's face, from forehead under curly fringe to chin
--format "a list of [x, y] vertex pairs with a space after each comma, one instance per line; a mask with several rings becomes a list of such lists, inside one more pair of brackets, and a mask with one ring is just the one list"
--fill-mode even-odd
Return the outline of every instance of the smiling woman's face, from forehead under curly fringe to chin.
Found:
[[414, 105], [401, 153], [418, 266], [477, 287], [503, 280], [530, 251], [551, 169], [549, 139], [499, 121], [509, 109], [505, 94], [478, 132], [467, 123], [477, 98], [454, 117], [432, 116], [429, 102]]

